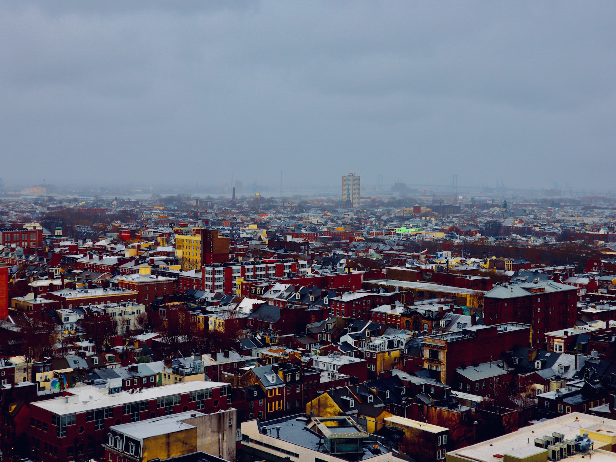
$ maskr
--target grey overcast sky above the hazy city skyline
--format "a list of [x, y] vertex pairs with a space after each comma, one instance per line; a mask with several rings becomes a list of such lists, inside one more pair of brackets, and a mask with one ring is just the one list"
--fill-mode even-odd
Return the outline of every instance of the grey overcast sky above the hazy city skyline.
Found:
[[616, 190], [615, 2], [0, 2], [6, 184]]

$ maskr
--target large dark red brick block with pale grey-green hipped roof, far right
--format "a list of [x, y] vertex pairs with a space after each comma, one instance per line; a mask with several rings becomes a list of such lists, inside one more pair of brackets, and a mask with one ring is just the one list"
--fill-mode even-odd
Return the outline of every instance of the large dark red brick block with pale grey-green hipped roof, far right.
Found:
[[519, 322], [532, 326], [532, 344], [546, 332], [575, 326], [577, 288], [554, 281], [497, 286], [484, 296], [484, 324]]

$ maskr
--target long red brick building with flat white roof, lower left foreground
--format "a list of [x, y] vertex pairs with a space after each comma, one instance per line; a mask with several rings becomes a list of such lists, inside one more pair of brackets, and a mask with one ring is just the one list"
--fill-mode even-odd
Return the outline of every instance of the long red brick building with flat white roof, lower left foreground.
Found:
[[227, 410], [230, 401], [231, 386], [219, 382], [192, 381], [111, 395], [92, 386], [75, 387], [62, 398], [30, 403], [26, 433], [35, 459], [91, 459], [102, 455], [110, 426], [187, 410]]

